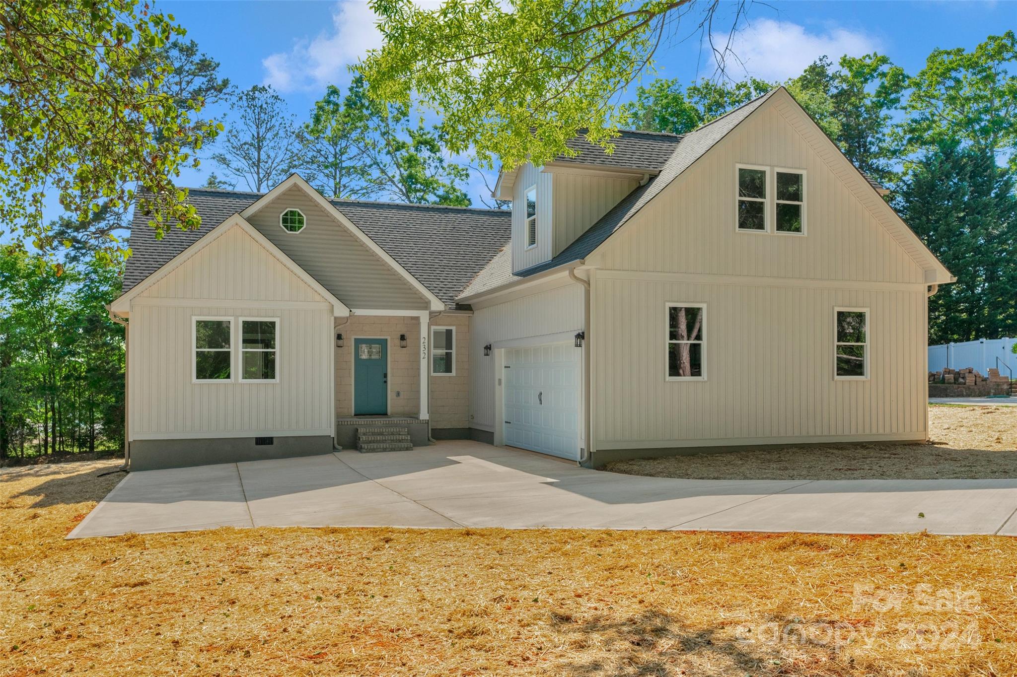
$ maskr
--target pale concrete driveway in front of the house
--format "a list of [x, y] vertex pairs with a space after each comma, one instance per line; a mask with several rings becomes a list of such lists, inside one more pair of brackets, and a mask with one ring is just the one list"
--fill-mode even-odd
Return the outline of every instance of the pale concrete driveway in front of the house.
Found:
[[1017, 479], [675, 480], [444, 441], [412, 451], [131, 473], [67, 538], [217, 527], [1017, 536], [1015, 511]]

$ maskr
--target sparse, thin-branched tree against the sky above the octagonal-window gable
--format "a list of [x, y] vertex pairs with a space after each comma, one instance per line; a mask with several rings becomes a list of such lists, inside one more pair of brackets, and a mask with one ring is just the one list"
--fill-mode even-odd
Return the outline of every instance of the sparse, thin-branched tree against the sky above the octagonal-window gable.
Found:
[[296, 122], [272, 86], [255, 84], [230, 107], [236, 116], [212, 159], [249, 190], [274, 188], [299, 162]]

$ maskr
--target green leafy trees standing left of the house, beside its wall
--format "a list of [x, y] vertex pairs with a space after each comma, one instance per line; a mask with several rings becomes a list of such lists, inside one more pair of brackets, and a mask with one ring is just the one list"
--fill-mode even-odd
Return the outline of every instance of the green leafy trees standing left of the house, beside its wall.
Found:
[[120, 267], [0, 255], [0, 457], [123, 446]]

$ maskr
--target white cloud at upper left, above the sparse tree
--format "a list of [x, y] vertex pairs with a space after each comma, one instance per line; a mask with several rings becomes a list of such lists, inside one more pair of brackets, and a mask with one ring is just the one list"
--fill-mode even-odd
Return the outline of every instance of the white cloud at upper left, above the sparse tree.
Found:
[[320, 89], [333, 82], [348, 80], [347, 66], [356, 63], [367, 50], [381, 47], [377, 17], [366, 2], [337, 3], [332, 26], [316, 38], [298, 41], [289, 52], [273, 54], [261, 61], [263, 84], [281, 91]]

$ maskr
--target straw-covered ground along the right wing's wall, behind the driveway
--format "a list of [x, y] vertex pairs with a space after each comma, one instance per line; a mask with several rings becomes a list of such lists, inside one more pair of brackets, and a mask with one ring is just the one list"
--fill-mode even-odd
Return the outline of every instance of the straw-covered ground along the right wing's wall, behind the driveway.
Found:
[[929, 408], [929, 444], [803, 446], [639, 458], [604, 470], [695, 480], [1017, 478], [1017, 407]]

